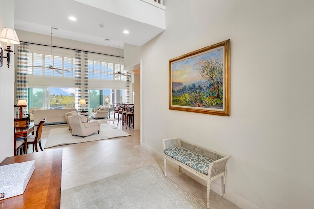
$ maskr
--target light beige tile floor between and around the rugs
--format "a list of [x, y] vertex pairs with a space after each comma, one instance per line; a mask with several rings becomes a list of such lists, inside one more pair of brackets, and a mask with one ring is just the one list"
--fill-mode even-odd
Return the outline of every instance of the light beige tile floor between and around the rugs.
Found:
[[[128, 132], [131, 136], [56, 147], [63, 148], [61, 190], [146, 165], [153, 165], [161, 172], [164, 171], [163, 159], [140, 146], [139, 131], [121, 127], [121, 123], [117, 126], [117, 121], [114, 123], [108, 121], [108, 123]], [[41, 138], [43, 147], [49, 131], [60, 127], [66, 127], [66, 125], [47, 125], [43, 127]], [[28, 153], [30, 152], [32, 152], [31, 146]], [[206, 186], [171, 166], [167, 168], [167, 176], [206, 205]], [[235, 204], [222, 199], [220, 195], [213, 191], [210, 192], [210, 208], [239, 209]]]

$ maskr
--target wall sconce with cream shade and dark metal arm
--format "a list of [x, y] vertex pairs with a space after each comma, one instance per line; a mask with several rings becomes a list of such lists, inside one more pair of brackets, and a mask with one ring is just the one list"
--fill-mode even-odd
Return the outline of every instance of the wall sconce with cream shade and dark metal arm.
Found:
[[3, 64], [3, 58], [6, 58], [8, 61], [8, 68], [10, 67], [10, 57], [11, 57], [11, 52], [13, 52], [11, 50], [11, 44], [20, 44], [18, 35], [16, 34], [15, 30], [10, 29], [10, 28], [4, 28], [1, 32], [0, 35], [0, 41], [3, 42], [7, 42], [7, 46], [6, 49], [4, 49], [4, 51], [6, 51], [6, 57], [3, 57], [3, 50], [0, 47], [0, 67]]

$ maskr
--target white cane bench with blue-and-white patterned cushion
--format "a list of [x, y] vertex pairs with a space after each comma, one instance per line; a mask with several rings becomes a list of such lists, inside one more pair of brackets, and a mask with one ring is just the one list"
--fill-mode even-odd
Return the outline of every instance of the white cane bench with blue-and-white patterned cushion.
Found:
[[207, 183], [207, 208], [210, 184], [221, 177], [222, 197], [225, 199], [227, 162], [231, 155], [219, 153], [180, 138], [163, 139], [165, 176], [167, 160], [205, 180]]

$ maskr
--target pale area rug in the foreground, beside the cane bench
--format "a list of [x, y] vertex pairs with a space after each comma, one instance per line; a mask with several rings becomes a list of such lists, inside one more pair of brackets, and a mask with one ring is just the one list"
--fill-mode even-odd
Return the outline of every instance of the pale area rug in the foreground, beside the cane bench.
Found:
[[61, 209], [87, 208], [206, 209], [151, 165], [61, 191]]

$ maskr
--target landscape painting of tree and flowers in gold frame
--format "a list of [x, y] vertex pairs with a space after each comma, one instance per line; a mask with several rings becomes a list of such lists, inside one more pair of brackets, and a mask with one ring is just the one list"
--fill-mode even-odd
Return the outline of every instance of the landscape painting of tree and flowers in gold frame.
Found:
[[230, 116], [230, 39], [169, 60], [169, 109]]

